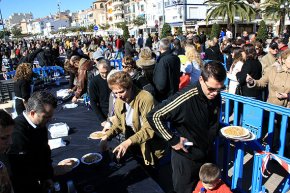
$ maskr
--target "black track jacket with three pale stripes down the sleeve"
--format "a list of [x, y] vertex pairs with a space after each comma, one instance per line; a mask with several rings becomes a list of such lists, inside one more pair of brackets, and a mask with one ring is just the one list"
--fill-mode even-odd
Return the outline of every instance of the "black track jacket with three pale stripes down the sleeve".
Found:
[[[192, 160], [201, 160], [207, 157], [218, 135], [220, 106], [220, 94], [208, 100], [198, 81], [155, 106], [147, 120], [170, 146], [179, 143], [180, 136], [193, 142], [193, 146], [188, 149], [189, 153], [182, 150], [177, 153]], [[168, 122], [178, 134], [168, 127]]]

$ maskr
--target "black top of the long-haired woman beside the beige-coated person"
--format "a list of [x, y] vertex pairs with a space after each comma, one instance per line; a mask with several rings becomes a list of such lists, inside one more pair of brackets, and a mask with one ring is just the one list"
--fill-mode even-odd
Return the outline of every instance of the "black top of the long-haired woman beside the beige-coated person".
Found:
[[247, 86], [246, 78], [249, 74], [253, 79], [259, 80], [262, 77], [262, 65], [259, 60], [246, 60], [240, 72], [236, 74], [237, 80], [242, 87], [243, 96], [259, 98], [262, 90], [253, 87], [249, 88]]

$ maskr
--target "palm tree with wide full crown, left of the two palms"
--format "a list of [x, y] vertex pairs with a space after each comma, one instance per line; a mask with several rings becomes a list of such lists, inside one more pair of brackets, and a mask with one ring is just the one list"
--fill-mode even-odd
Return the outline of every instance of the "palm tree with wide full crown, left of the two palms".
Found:
[[207, 0], [204, 4], [211, 6], [207, 10], [206, 22], [211, 18], [222, 17], [223, 20], [227, 19], [227, 27], [230, 30], [235, 16], [239, 16], [242, 21], [251, 21], [256, 16], [256, 10], [245, 0]]

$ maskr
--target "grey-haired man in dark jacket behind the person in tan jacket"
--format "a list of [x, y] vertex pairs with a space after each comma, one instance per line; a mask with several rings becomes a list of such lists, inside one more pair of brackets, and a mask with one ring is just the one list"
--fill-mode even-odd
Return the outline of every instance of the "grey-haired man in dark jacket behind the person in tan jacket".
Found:
[[101, 59], [97, 64], [97, 68], [99, 74], [90, 81], [89, 96], [91, 107], [97, 114], [101, 125], [104, 126], [108, 116], [111, 93], [107, 83], [107, 76], [111, 70], [110, 61]]

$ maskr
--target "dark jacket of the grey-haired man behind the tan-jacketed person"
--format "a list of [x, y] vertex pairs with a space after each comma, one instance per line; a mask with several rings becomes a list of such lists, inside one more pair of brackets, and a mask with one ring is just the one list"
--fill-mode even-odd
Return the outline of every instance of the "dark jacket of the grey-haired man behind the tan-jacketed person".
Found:
[[103, 79], [101, 75], [92, 78], [89, 85], [90, 103], [100, 122], [107, 119], [110, 93], [107, 80]]

